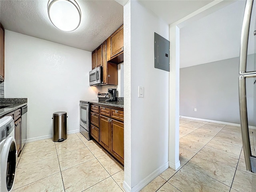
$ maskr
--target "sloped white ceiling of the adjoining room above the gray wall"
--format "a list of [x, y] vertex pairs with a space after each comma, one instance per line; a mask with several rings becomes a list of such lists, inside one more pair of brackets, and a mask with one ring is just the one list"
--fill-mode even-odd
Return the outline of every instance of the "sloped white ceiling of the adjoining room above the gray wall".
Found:
[[[180, 29], [180, 68], [238, 57], [245, 1], [234, 2]], [[256, 3], [248, 54], [255, 52]]]

